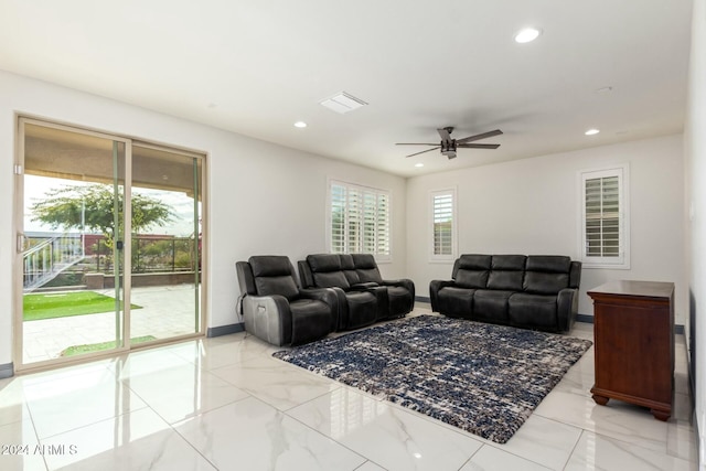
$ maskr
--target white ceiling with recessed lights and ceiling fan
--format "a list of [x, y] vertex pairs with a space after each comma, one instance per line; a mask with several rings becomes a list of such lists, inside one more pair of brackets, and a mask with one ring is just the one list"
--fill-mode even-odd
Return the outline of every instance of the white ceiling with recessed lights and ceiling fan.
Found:
[[[682, 131], [691, 10], [692, 0], [0, 0], [0, 68], [410, 176]], [[526, 25], [543, 34], [515, 43]], [[345, 115], [319, 105], [342, 90], [370, 105]], [[454, 160], [407, 159], [425, 147], [395, 146], [436, 142], [445, 126], [456, 138], [504, 135], [479, 141], [500, 149]], [[601, 132], [585, 136], [592, 127]]]

